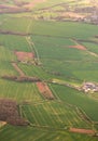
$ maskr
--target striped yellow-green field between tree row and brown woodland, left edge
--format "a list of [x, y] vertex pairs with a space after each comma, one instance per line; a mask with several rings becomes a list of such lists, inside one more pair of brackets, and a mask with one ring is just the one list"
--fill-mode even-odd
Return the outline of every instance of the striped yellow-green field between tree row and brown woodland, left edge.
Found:
[[0, 90], [1, 98], [11, 98], [18, 102], [34, 102], [42, 100], [34, 84], [0, 80]]

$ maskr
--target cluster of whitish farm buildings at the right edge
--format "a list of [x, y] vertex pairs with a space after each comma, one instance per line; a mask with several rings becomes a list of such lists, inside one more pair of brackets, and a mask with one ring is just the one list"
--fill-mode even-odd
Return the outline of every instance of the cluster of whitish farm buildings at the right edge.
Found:
[[98, 92], [98, 85], [95, 82], [84, 82], [82, 86], [84, 92]]

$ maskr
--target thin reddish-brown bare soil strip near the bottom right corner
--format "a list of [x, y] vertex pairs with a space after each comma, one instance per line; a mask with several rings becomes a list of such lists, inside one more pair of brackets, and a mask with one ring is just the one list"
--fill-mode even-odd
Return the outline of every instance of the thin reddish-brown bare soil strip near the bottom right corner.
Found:
[[85, 133], [85, 134], [95, 134], [94, 130], [89, 130], [89, 129], [79, 129], [79, 128], [70, 128], [71, 132], [78, 132], [78, 133]]

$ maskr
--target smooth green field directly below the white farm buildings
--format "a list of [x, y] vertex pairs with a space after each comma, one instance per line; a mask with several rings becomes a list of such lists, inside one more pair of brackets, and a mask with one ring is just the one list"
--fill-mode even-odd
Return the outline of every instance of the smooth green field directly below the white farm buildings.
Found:
[[53, 85], [52, 88], [55, 90], [57, 97], [59, 97], [60, 100], [81, 107], [93, 120], [98, 120], [97, 101], [92, 100], [87, 95], [83, 94], [83, 92], [79, 92], [78, 90], [74, 90], [72, 88], [57, 85]]

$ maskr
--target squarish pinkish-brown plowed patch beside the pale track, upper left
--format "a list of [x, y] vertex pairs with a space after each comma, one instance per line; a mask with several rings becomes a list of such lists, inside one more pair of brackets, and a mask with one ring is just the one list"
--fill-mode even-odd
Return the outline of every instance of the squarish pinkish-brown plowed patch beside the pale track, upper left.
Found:
[[17, 56], [18, 61], [26, 61], [26, 60], [34, 59], [34, 54], [32, 52], [15, 51], [15, 55]]

